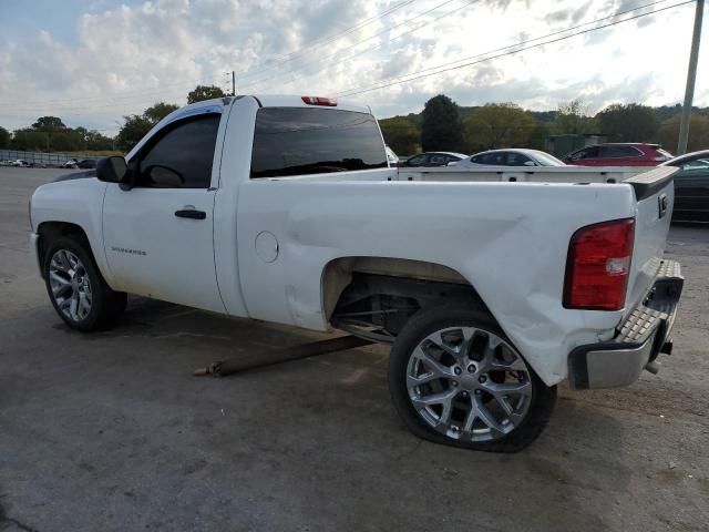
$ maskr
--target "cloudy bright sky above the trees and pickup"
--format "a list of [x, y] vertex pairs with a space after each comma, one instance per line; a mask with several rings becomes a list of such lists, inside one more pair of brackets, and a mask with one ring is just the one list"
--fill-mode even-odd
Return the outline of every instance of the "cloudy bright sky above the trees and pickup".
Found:
[[[534, 110], [675, 104], [693, 3], [593, 29], [681, 2], [0, 0], [0, 125], [51, 114], [114, 134], [123, 115], [184, 104], [197, 83], [230, 86], [232, 70], [237, 93], [352, 94], [379, 117], [439, 93]], [[699, 65], [695, 103], [709, 105], [709, 42]]]

